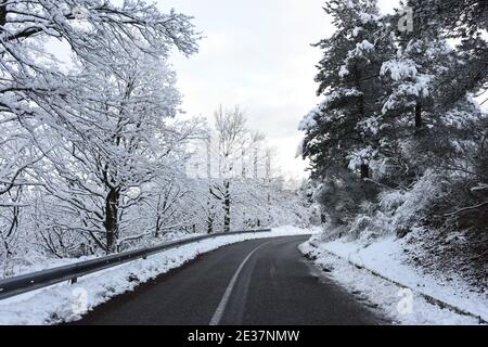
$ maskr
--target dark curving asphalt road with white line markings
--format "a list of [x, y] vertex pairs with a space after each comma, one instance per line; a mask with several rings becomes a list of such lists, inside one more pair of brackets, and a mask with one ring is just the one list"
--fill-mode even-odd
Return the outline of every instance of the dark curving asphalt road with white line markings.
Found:
[[298, 252], [306, 236], [220, 248], [89, 313], [84, 325], [362, 325], [382, 320]]

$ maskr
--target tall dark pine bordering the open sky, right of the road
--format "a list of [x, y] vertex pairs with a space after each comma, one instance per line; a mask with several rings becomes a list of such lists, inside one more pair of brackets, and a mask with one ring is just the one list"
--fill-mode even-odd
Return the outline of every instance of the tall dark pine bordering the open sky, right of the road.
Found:
[[324, 50], [316, 80], [324, 101], [305, 117], [304, 156], [316, 178], [349, 167], [365, 179], [376, 155], [377, 116], [381, 114], [380, 72], [391, 54], [387, 21], [376, 1], [330, 1], [325, 12], [336, 33], [317, 46]]

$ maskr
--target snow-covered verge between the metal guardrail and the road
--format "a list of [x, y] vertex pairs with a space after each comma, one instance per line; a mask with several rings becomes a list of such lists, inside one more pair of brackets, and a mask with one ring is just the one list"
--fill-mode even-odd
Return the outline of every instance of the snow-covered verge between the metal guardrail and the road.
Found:
[[219, 236], [80, 278], [78, 283], [57, 284], [0, 301], [0, 325], [43, 325], [76, 321], [111, 298], [133, 291], [159, 274], [181, 267], [198, 255], [226, 245], [256, 239], [310, 234], [295, 227], [267, 233]]

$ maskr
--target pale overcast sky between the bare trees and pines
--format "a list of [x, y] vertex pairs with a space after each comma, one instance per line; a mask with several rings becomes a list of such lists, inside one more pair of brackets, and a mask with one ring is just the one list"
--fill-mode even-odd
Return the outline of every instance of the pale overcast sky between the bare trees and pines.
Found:
[[[301, 117], [319, 102], [314, 65], [321, 52], [310, 43], [334, 28], [324, 0], [158, 0], [193, 15], [205, 39], [201, 52], [172, 63], [192, 116], [213, 117], [219, 104], [242, 105], [249, 127], [265, 132], [283, 171], [305, 177], [295, 158]], [[383, 0], [389, 11], [396, 1]]]

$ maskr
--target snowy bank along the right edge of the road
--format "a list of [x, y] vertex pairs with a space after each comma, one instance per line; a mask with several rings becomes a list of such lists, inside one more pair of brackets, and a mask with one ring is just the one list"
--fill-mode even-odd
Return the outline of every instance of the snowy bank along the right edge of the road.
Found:
[[[300, 250], [335, 281], [398, 324], [479, 324], [488, 321], [488, 298], [460, 279], [444, 282], [408, 265], [401, 242], [387, 237], [370, 245], [319, 237]], [[474, 314], [465, 316], [433, 304], [428, 297]]]

